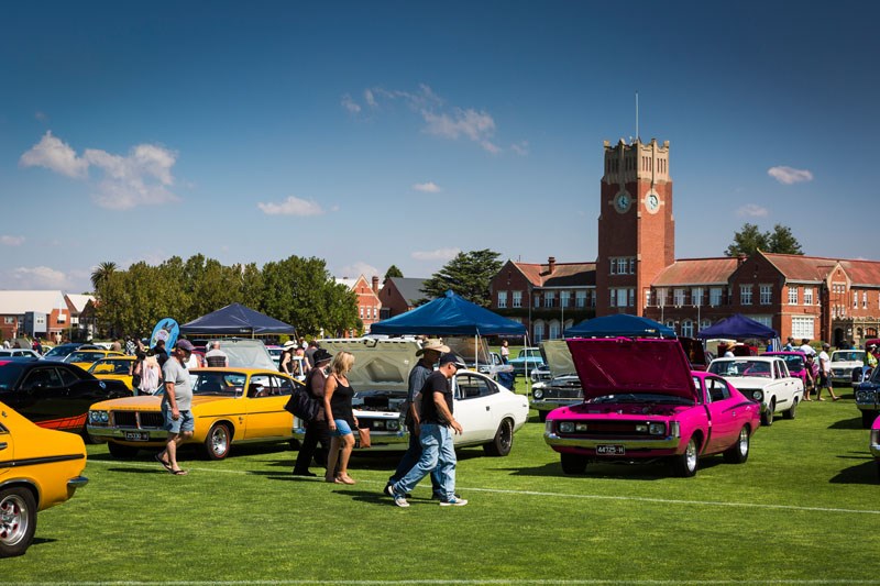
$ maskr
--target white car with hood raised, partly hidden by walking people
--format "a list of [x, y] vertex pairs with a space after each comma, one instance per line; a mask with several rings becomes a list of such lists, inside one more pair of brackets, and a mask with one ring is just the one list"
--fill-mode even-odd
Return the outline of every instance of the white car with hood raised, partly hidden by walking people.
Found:
[[[354, 355], [349, 373], [355, 391], [352, 405], [361, 428], [370, 429], [370, 450], [406, 450], [409, 434], [400, 410], [420, 343], [411, 339], [352, 338], [321, 340], [319, 345], [330, 354], [344, 350]], [[510, 453], [514, 433], [528, 419], [528, 399], [469, 369], [455, 373], [452, 392], [455, 420], [462, 427], [462, 433], [453, 435], [455, 446], [482, 445], [494, 456]], [[305, 435], [302, 422], [294, 418], [294, 436], [301, 441]]]

